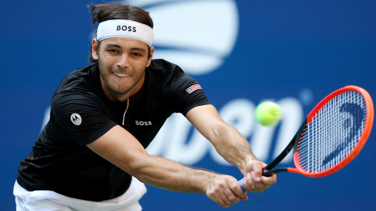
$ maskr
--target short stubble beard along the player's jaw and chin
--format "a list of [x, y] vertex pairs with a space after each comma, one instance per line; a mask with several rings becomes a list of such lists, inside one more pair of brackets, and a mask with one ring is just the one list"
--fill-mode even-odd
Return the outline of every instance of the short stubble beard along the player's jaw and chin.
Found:
[[[100, 72], [100, 75], [103, 78], [103, 81], [105, 82], [108, 89], [111, 90], [111, 92], [113, 92], [115, 95], [124, 95], [124, 94], [128, 93], [130, 90], [133, 89], [133, 87], [136, 86], [136, 84], [141, 80], [141, 78], [144, 75], [144, 72], [140, 72], [139, 74], [132, 75], [134, 77], [133, 77], [133, 81], [130, 85], [120, 86], [119, 84], [111, 82], [110, 79], [109, 79], [109, 74], [113, 74], [111, 72], [111, 71], [114, 71], [113, 67], [109, 67], [109, 70], [107, 70], [105, 65], [102, 62], [100, 62], [100, 59], [98, 59], [98, 66], [99, 66], [99, 72]], [[114, 71], [114, 72], [116, 72], [116, 71]]]

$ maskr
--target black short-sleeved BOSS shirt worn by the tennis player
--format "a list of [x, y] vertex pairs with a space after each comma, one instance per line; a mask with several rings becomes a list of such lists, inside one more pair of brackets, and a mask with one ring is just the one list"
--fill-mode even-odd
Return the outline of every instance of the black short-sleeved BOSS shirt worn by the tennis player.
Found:
[[[131, 176], [91, 151], [93, 142], [115, 125], [146, 148], [172, 113], [210, 104], [200, 85], [179, 66], [162, 59], [146, 68], [145, 83], [127, 102], [103, 93], [98, 65], [68, 74], [52, 97], [50, 120], [21, 161], [18, 183], [26, 190], [52, 190], [101, 201], [123, 194]], [[130, 149], [131, 150], [131, 149]]]

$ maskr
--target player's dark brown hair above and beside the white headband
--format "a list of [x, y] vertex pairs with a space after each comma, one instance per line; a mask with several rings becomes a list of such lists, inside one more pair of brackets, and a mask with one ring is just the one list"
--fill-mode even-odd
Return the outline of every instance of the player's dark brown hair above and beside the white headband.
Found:
[[[114, 20], [114, 19], [124, 19], [124, 20], [131, 20], [136, 21], [138, 23], [145, 24], [147, 26], [150, 26], [153, 28], [153, 20], [150, 18], [149, 12], [144, 11], [141, 8], [130, 6], [130, 5], [124, 5], [121, 2], [109, 2], [105, 4], [93, 4], [88, 5], [89, 12], [92, 15], [92, 18], [90, 19], [91, 25], [94, 26], [95, 23], [101, 23], [103, 21], [108, 20]], [[97, 32], [98, 27], [96, 27], [94, 30]], [[98, 43], [98, 48], [100, 47], [100, 42]], [[97, 52], [98, 53], [98, 52]], [[150, 47], [149, 47], [149, 57], [150, 54]], [[97, 62], [92, 57], [92, 49], [90, 45], [90, 52], [89, 52], [89, 58], [88, 60], [90, 62]]]

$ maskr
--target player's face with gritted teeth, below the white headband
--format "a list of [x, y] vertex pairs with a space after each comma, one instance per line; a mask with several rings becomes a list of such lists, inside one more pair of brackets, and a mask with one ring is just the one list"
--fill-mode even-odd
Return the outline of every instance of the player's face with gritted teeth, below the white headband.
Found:
[[98, 54], [96, 47], [97, 41], [93, 39], [93, 58], [98, 59], [106, 95], [121, 98], [138, 92], [144, 83], [145, 68], [151, 62], [149, 46], [136, 39], [109, 38], [101, 41]]

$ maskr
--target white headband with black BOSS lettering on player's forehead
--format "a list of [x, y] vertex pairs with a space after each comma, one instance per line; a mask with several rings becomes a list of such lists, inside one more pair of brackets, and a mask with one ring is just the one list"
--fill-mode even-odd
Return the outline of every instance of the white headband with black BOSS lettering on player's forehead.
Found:
[[99, 23], [97, 30], [97, 40], [108, 38], [132, 38], [145, 42], [152, 47], [153, 29], [136, 21], [116, 19]]

